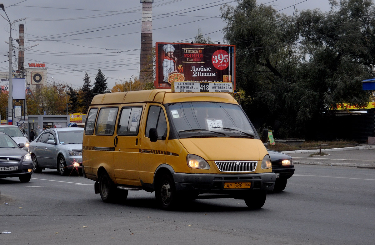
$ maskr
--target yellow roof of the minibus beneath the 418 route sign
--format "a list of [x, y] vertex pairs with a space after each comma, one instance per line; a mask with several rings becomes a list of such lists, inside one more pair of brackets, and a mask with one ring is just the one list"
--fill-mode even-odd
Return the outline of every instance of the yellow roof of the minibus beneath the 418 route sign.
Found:
[[166, 104], [186, 101], [213, 101], [238, 104], [230, 94], [226, 93], [172, 93], [171, 89], [153, 89], [98, 94], [93, 98], [91, 106], [144, 102]]

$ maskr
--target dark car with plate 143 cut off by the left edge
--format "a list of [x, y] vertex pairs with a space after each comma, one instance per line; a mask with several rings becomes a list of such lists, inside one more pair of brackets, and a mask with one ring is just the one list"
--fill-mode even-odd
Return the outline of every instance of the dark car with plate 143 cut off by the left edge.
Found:
[[30, 181], [33, 161], [30, 154], [21, 149], [24, 143], [17, 144], [12, 137], [0, 132], [0, 178], [18, 177], [21, 182]]

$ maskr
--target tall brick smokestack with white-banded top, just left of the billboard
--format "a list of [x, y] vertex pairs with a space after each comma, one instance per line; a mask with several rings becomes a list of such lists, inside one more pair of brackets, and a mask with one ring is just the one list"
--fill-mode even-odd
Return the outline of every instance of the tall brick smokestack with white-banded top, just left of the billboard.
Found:
[[154, 0], [141, 0], [141, 59], [139, 62], [139, 80], [141, 83], [153, 82], [152, 59], [152, 4]]

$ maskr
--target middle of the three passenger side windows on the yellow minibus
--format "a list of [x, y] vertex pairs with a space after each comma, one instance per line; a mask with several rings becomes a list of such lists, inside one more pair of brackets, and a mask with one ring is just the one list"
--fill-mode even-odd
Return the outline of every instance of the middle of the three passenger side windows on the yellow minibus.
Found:
[[118, 107], [102, 108], [96, 120], [96, 135], [113, 135]]

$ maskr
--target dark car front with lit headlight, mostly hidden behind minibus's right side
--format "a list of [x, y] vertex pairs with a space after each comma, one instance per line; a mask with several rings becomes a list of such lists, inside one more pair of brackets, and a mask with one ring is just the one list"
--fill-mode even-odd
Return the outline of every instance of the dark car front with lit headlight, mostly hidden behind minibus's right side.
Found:
[[287, 154], [268, 150], [271, 158], [272, 171], [276, 174], [274, 192], [284, 191], [288, 178], [294, 174], [293, 158]]

